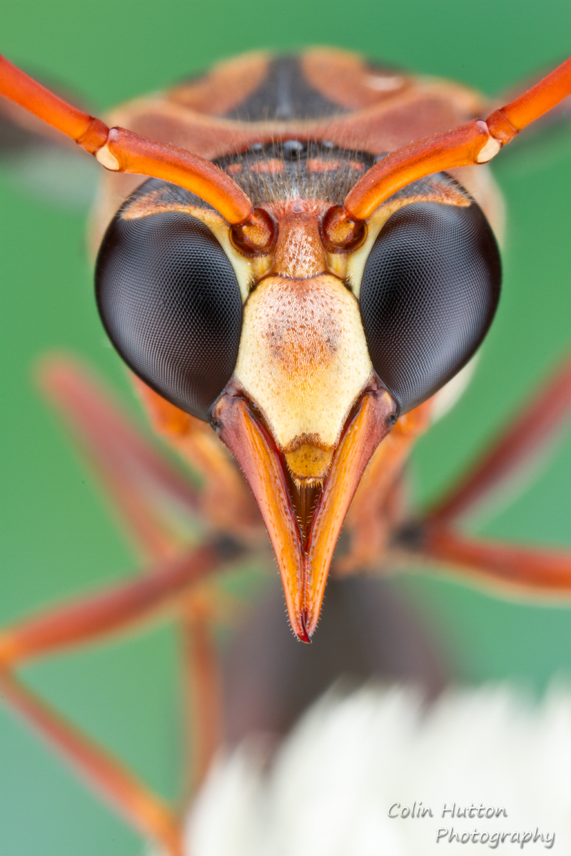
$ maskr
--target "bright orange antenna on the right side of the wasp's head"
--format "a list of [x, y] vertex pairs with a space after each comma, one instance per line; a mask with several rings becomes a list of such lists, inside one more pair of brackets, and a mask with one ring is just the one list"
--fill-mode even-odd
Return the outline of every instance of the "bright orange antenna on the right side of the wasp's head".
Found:
[[[391, 152], [369, 169], [347, 194], [345, 218], [366, 220], [385, 199], [425, 175], [441, 169], [487, 163], [522, 128], [543, 116], [570, 93], [571, 58], [511, 104], [495, 110], [485, 122], [473, 120], [460, 128]], [[336, 221], [338, 219], [339, 214]], [[336, 225], [339, 227], [339, 223]]]

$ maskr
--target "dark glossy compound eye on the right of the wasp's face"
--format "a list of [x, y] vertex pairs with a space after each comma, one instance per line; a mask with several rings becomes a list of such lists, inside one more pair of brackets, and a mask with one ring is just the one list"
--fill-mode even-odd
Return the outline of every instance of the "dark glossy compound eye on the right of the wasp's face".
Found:
[[497, 243], [475, 203], [413, 203], [387, 220], [366, 261], [360, 311], [373, 368], [401, 413], [467, 363], [500, 282]]

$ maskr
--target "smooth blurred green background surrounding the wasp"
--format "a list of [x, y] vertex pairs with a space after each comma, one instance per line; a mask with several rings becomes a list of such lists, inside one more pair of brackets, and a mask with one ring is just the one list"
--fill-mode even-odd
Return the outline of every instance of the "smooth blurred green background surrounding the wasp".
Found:
[[[387, 3], [183, 3], [20, 0], [0, 10], [3, 51], [61, 80], [99, 110], [259, 47], [330, 44], [490, 94], [569, 52], [568, 0]], [[565, 149], [567, 148], [567, 153]], [[419, 500], [485, 445], [571, 340], [571, 135], [530, 158], [498, 159], [509, 206], [503, 300], [471, 388], [420, 444]], [[84, 252], [85, 216], [57, 210], [0, 175], [2, 526], [0, 621], [118, 580], [135, 562], [110, 513], [33, 389], [40, 354], [81, 354], [133, 402], [106, 344]], [[473, 530], [571, 546], [571, 443], [496, 516]], [[541, 690], [571, 669], [571, 612], [505, 603], [443, 580], [399, 584], [437, 629], [463, 681], [513, 679]], [[176, 793], [178, 687], [168, 627], [25, 670], [161, 793]], [[127, 856], [142, 843], [27, 729], [0, 710], [2, 856]]]

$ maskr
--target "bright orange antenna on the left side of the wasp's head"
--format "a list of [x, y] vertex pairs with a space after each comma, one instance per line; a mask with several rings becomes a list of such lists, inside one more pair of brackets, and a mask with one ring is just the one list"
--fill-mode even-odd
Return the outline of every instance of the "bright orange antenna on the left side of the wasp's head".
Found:
[[[124, 128], [108, 128], [78, 110], [0, 56], [0, 94], [67, 134], [113, 172], [172, 181], [210, 203], [229, 223], [257, 223], [246, 193], [214, 163], [184, 149], [149, 140]], [[257, 223], [257, 225], [259, 225]]]

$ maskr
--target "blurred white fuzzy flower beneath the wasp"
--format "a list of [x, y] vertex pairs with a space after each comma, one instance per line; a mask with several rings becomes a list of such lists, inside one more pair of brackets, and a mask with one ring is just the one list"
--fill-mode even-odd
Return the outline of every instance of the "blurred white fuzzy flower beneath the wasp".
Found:
[[246, 746], [217, 763], [187, 846], [193, 856], [571, 853], [571, 695], [554, 690], [535, 707], [505, 687], [455, 691], [426, 709], [407, 689], [330, 694], [269, 768]]

